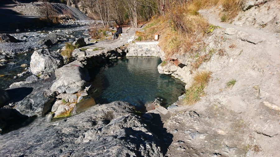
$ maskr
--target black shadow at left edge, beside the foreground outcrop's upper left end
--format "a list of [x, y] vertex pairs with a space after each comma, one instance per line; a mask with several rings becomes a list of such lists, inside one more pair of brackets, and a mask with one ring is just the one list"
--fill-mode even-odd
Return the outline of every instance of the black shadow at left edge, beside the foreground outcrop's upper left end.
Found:
[[22, 115], [15, 109], [0, 109], [0, 134], [25, 127], [34, 119], [34, 117]]

